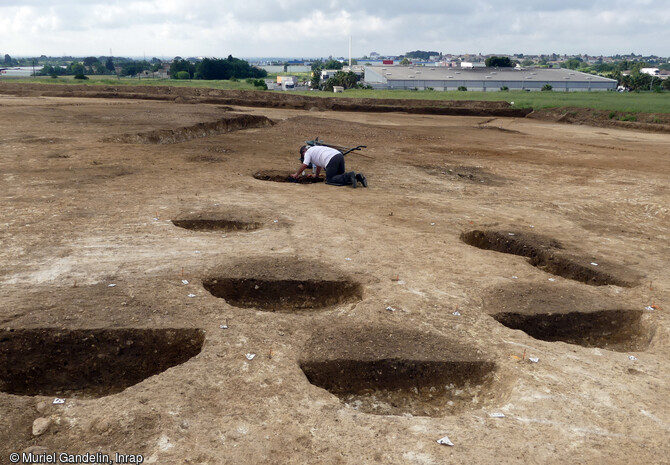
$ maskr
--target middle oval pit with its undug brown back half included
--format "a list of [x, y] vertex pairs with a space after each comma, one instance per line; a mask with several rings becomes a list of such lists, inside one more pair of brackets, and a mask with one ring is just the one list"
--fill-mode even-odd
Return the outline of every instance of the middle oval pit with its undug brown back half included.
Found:
[[260, 260], [224, 270], [203, 279], [203, 286], [234, 307], [300, 312], [356, 302], [363, 296], [360, 283], [315, 262]]

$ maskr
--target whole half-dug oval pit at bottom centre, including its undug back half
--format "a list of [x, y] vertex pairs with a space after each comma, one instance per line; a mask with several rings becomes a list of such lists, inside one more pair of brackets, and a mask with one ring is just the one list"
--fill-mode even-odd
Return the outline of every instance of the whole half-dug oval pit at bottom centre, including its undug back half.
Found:
[[327, 328], [300, 368], [349, 407], [377, 415], [441, 417], [498, 402], [497, 365], [474, 348], [426, 332]]

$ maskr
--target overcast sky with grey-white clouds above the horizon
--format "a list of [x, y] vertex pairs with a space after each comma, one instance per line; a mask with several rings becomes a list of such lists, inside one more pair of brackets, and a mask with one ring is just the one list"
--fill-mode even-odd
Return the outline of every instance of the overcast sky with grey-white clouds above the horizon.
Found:
[[0, 54], [670, 55], [669, 0], [0, 0]]

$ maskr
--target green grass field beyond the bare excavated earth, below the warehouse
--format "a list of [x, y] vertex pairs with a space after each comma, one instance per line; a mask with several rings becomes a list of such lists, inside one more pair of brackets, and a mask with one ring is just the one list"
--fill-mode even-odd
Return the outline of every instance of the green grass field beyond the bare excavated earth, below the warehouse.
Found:
[[[0, 82], [24, 82], [42, 84], [83, 84], [83, 85], [146, 85], [197, 87], [223, 90], [254, 90], [255, 87], [241, 81], [179, 81], [174, 79], [132, 79], [110, 78], [109, 76], [91, 76], [87, 81], [77, 81], [71, 76], [52, 79], [38, 78], [7, 78]], [[670, 113], [670, 92], [440, 92], [440, 91], [408, 91], [408, 90], [368, 90], [349, 89], [343, 93], [330, 92], [296, 92], [301, 95], [324, 98], [374, 98], [374, 99], [425, 99], [425, 100], [485, 100], [514, 102], [517, 108], [559, 108], [580, 107], [594, 110], [609, 110], [629, 113]]]

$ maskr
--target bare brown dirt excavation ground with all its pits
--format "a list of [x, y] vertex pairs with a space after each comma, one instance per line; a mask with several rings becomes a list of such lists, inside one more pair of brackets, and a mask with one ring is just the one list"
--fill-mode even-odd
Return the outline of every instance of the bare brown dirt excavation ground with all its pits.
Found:
[[670, 463], [670, 136], [119, 89], [0, 85], [0, 463]]

